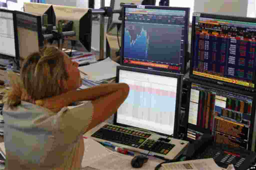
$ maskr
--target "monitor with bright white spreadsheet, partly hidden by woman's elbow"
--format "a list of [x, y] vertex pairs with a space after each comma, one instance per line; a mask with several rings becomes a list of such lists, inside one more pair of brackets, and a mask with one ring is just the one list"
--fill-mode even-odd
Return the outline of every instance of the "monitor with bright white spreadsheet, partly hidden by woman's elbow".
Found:
[[118, 66], [116, 82], [130, 92], [114, 115], [114, 124], [178, 137], [183, 75]]

